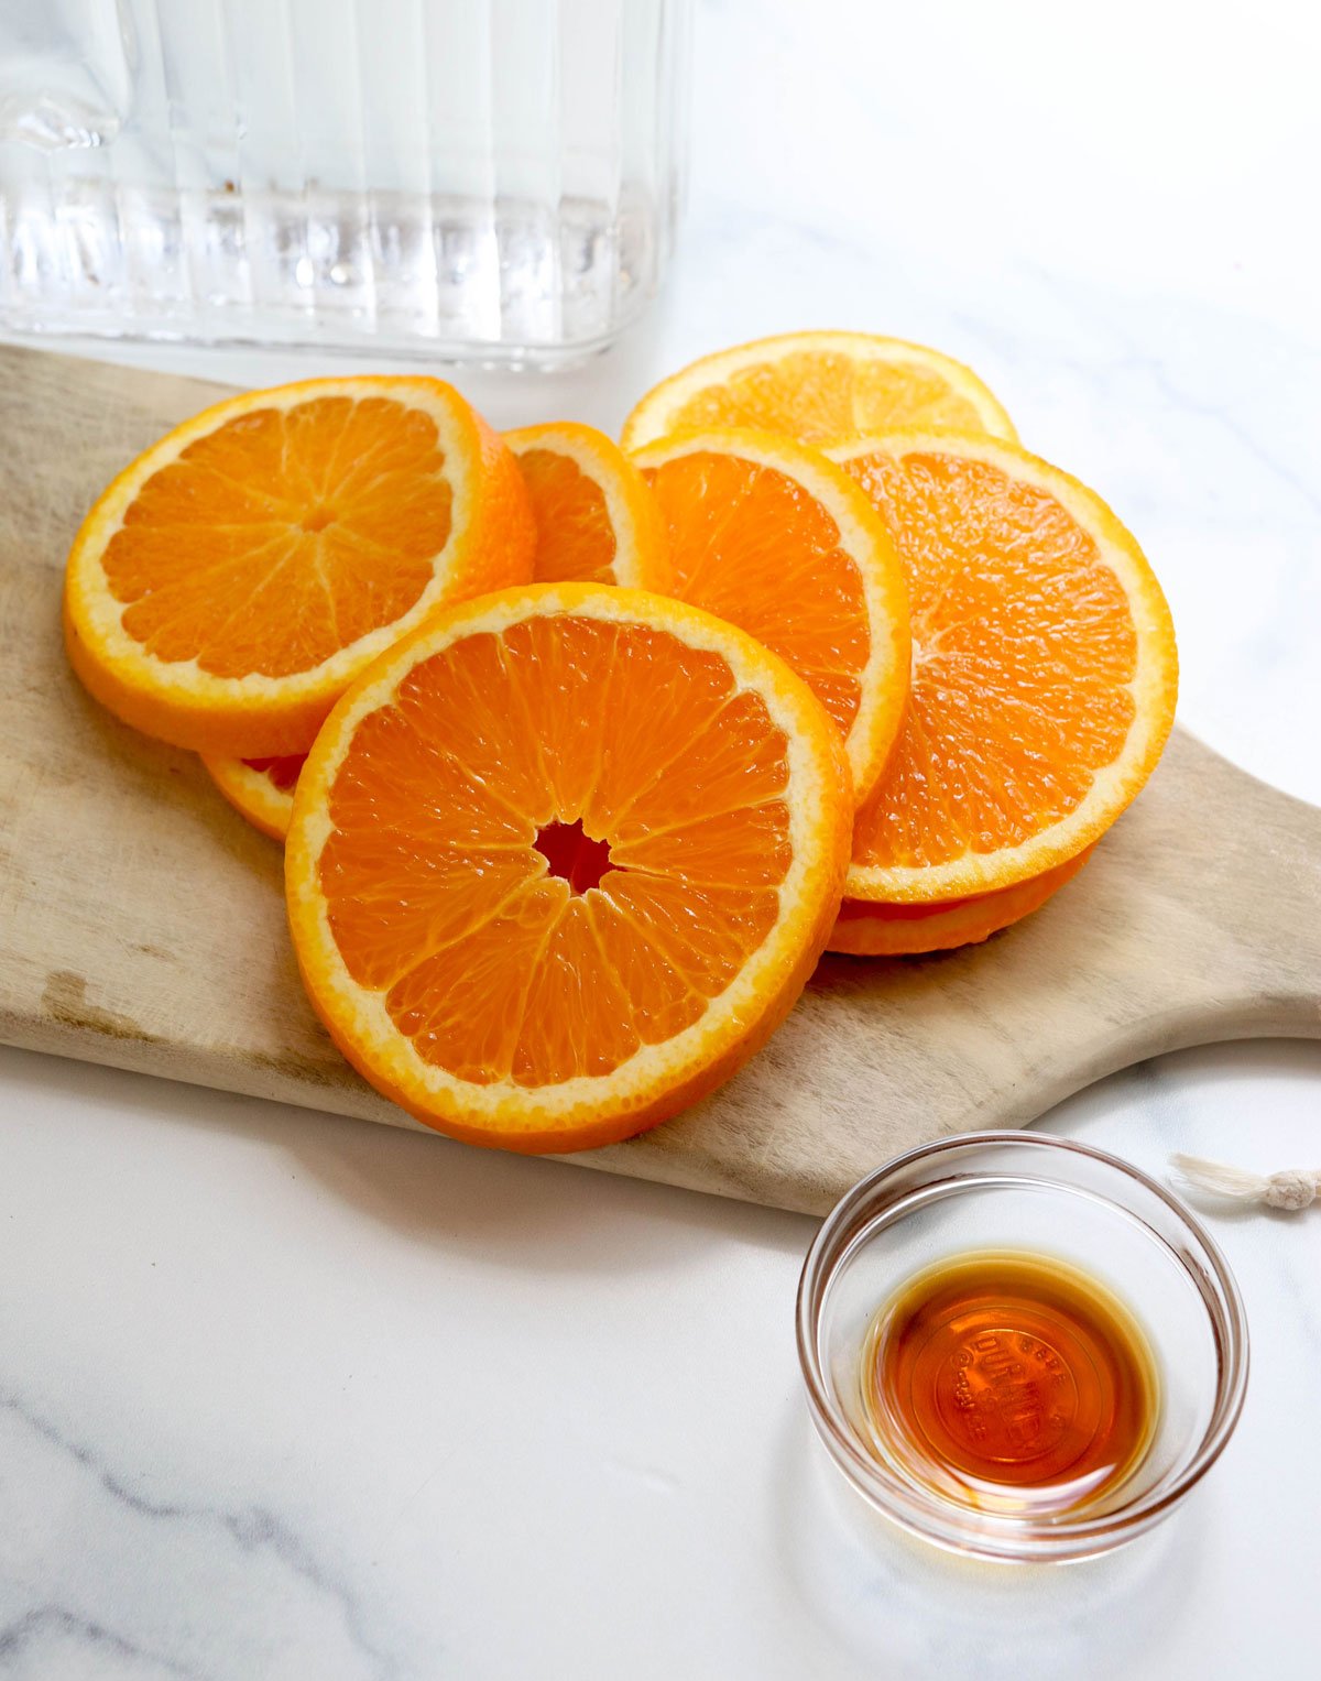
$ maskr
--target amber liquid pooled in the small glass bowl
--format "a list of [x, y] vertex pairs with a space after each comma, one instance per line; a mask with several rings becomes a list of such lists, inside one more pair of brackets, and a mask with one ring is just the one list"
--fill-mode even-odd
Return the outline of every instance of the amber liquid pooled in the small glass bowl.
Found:
[[1146, 1456], [1156, 1363], [1129, 1309], [1049, 1256], [978, 1251], [911, 1278], [860, 1367], [877, 1457], [992, 1511], [1099, 1506]]

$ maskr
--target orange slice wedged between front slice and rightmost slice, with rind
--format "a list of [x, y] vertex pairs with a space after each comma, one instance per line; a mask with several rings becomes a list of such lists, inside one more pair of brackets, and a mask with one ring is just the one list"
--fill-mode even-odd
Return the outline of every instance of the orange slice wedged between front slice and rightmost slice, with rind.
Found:
[[844, 736], [855, 800], [908, 691], [908, 592], [889, 531], [815, 449], [736, 429], [637, 456], [669, 533], [674, 593], [787, 661]]

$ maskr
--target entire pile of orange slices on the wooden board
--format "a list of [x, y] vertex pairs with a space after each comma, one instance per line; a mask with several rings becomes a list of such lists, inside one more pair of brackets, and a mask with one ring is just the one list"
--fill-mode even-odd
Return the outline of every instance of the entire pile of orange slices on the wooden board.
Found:
[[109, 486], [66, 640], [286, 842], [308, 995], [429, 1125], [545, 1151], [714, 1089], [827, 945], [985, 940], [1170, 731], [1170, 615], [960, 363], [721, 351], [624, 447], [430, 378], [220, 403]]

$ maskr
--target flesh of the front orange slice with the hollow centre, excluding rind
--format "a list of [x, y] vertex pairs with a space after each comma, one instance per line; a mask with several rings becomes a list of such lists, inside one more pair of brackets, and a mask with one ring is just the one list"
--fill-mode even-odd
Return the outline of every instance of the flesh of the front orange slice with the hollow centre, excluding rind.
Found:
[[[319, 861], [331, 933], [457, 1078], [607, 1074], [697, 1020], [775, 925], [787, 785], [785, 735], [718, 654], [573, 617], [472, 634], [353, 735]], [[608, 846], [585, 893], [538, 849], [576, 822]]]

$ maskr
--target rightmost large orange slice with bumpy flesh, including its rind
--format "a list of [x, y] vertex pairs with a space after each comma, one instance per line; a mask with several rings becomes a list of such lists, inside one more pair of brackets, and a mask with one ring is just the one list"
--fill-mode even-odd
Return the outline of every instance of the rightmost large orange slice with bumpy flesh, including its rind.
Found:
[[857, 814], [847, 898], [960, 899], [1054, 869], [1139, 792], [1175, 716], [1143, 551], [1013, 444], [897, 432], [830, 454], [889, 524], [913, 614], [904, 723]]

